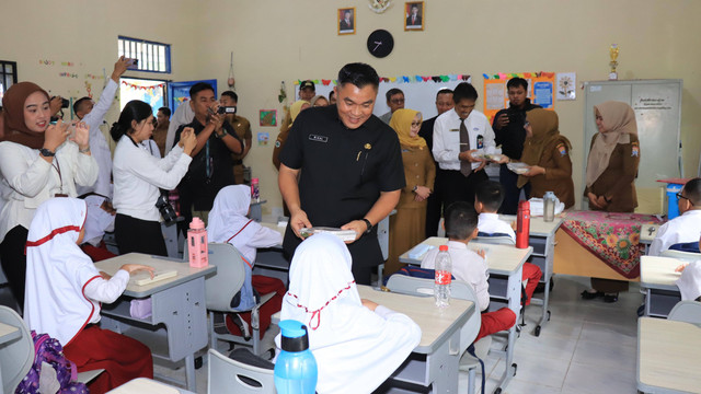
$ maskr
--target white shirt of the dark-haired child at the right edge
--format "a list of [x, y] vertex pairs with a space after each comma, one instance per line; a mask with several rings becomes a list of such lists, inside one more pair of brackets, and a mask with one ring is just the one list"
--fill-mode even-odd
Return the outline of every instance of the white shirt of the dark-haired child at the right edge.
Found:
[[650, 245], [650, 256], [659, 254], [678, 243], [699, 242], [701, 237], [701, 209], [691, 209], [659, 227]]

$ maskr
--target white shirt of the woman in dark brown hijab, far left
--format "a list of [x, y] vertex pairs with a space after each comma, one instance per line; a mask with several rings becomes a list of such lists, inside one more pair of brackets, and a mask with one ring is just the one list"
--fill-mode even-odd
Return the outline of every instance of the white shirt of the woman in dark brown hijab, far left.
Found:
[[[60, 178], [57, 167], [61, 170]], [[97, 162], [92, 155], [79, 153], [76, 142], [66, 141], [58, 147], [53, 164], [39, 157], [38, 149], [0, 142], [0, 194], [4, 200], [0, 242], [16, 225], [28, 229], [42, 202], [61, 193], [76, 197], [76, 184], [92, 185], [96, 178]]]

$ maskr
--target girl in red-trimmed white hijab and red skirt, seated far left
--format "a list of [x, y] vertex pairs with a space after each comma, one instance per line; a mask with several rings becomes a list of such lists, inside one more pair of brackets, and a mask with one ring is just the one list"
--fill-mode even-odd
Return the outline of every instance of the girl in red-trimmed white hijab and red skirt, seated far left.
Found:
[[148, 347], [96, 325], [100, 303], [114, 302], [130, 273], [153, 268], [125, 264], [112, 278], [97, 271], [78, 246], [85, 216], [85, 201], [77, 198], [51, 198], [37, 208], [26, 243], [24, 320], [37, 334], [58, 339], [78, 372], [105, 369], [90, 384], [91, 393], [104, 393], [131, 379], [153, 378]]

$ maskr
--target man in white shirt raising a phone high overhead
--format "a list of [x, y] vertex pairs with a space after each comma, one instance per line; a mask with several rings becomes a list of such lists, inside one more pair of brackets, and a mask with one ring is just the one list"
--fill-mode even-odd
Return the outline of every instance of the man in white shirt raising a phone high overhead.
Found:
[[73, 113], [76, 116], [90, 126], [90, 150], [93, 158], [97, 161], [99, 173], [97, 181], [93, 186], [79, 186], [78, 195], [84, 195], [88, 193], [95, 193], [101, 196], [112, 198], [112, 152], [110, 151], [110, 144], [105, 136], [100, 130], [100, 125], [105, 119], [105, 114], [110, 111], [114, 95], [119, 88], [119, 78], [127, 70], [129, 60], [124, 56], [117, 59], [114, 63], [114, 70], [111, 78], [107, 80], [105, 89], [100, 95], [97, 104], [90, 97], [82, 97], [73, 104]]

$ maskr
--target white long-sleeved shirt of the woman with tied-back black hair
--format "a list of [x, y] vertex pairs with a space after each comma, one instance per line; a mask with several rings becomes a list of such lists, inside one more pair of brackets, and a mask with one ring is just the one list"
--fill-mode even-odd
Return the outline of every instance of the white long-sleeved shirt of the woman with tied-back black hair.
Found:
[[160, 221], [156, 207], [159, 188], [174, 189], [187, 173], [193, 159], [174, 147], [163, 159], [151, 155], [126, 135], [114, 151], [114, 200], [117, 213], [136, 219]]

